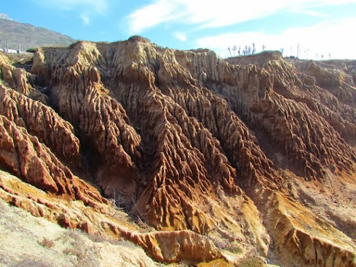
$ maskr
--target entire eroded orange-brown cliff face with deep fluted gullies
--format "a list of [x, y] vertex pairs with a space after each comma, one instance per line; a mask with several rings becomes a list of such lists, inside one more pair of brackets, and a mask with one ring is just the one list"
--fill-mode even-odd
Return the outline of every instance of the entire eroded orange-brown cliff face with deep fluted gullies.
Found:
[[40, 49], [31, 74], [0, 65], [1, 168], [107, 217], [115, 198], [158, 230], [95, 231], [158, 261], [233, 262], [221, 244], [236, 242], [286, 266], [356, 265], [350, 72], [139, 37]]

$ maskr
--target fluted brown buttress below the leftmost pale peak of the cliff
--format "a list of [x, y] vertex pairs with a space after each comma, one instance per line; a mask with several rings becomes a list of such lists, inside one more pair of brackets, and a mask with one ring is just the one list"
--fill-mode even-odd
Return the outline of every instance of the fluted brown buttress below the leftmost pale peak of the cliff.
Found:
[[[53, 67], [53, 63], [47, 63], [48, 69], [42, 67], [40, 73], [54, 69], [50, 72], [54, 79], [49, 85], [51, 101], [76, 129], [87, 156], [96, 161], [98, 184], [106, 195], [113, 190], [136, 192], [138, 173], [134, 160], [141, 156], [140, 136], [129, 124], [120, 102], [102, 85], [97, 67], [87, 66], [96, 58], [86, 51], [77, 56], [72, 55], [72, 50], [64, 50], [65, 56], [53, 52], [53, 56], [70, 58], [70, 62]], [[118, 183], [118, 179], [122, 182]]]

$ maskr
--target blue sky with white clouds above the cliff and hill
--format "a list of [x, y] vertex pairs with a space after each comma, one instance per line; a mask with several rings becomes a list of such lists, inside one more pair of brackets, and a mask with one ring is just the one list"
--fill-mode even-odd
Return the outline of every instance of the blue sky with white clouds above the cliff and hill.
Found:
[[264, 45], [284, 48], [284, 56], [356, 58], [356, 0], [11, 0], [0, 13], [80, 40], [142, 35], [221, 57], [229, 56], [227, 47], [254, 42], [257, 52]]

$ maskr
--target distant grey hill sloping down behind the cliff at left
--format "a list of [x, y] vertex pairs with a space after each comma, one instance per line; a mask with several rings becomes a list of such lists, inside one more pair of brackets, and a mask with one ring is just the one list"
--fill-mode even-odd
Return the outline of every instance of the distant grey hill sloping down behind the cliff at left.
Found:
[[17, 49], [21, 44], [21, 50], [26, 51], [30, 47], [40, 47], [48, 45], [69, 45], [75, 42], [67, 35], [49, 31], [31, 24], [15, 22], [11, 19], [0, 17], [0, 48]]

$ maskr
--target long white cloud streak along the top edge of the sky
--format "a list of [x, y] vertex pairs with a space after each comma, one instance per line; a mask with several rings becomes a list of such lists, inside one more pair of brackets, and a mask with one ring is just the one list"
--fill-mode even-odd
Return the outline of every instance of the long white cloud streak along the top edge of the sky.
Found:
[[141, 33], [164, 22], [181, 22], [202, 27], [218, 27], [266, 17], [284, 10], [321, 15], [310, 8], [356, 3], [356, 0], [154, 0], [127, 17], [131, 34]]

